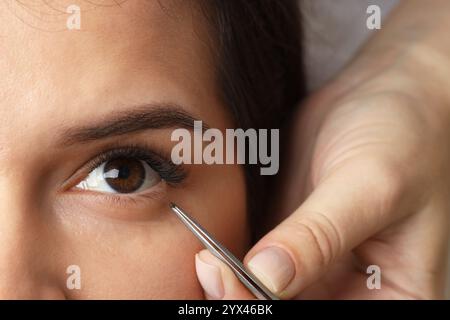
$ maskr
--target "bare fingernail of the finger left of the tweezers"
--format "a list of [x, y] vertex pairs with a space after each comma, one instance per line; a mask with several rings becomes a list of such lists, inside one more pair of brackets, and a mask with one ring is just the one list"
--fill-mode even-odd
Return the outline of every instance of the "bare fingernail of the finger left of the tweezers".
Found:
[[224, 296], [224, 288], [220, 269], [204, 261], [201, 255], [202, 253], [195, 255], [195, 267], [197, 269], [198, 280], [209, 298], [222, 299]]

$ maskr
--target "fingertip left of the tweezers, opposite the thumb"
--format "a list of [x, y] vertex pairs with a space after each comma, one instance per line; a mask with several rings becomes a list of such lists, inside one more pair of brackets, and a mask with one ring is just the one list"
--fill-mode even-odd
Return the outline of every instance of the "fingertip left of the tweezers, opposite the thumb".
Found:
[[195, 268], [208, 300], [255, 299], [233, 271], [208, 250], [202, 250], [195, 255]]

